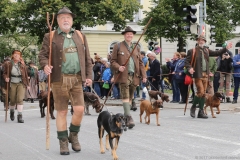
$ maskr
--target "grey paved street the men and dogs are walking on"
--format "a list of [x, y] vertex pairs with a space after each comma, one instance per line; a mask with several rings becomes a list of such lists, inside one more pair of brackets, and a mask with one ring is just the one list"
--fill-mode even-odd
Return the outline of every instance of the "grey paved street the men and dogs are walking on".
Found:
[[[113, 113], [123, 111], [119, 106], [120, 101], [107, 102], [109, 111]], [[1, 160], [112, 159], [110, 151], [100, 154], [97, 134], [98, 114], [94, 113], [94, 110], [91, 109], [92, 115], [84, 116], [82, 122], [79, 135], [82, 151], [75, 153], [69, 147], [70, 155], [60, 156], [55, 120], [50, 120], [50, 149], [46, 150], [46, 120], [40, 118], [38, 102], [25, 102], [24, 106], [24, 124], [9, 120], [9, 116], [8, 122], [5, 123], [5, 112], [2, 103], [0, 104]], [[222, 112], [216, 115], [215, 119], [210, 116], [208, 119], [191, 118], [190, 105], [184, 116], [184, 106], [184, 104], [165, 103], [164, 109], [160, 111], [161, 126], [156, 126], [155, 115], [151, 115], [151, 123], [146, 125], [139, 122], [139, 108], [136, 112], [131, 111], [136, 126], [121, 136], [117, 149], [119, 159], [240, 159], [240, 112], [235, 112], [239, 103], [222, 103]], [[68, 123], [70, 118], [69, 112]]]

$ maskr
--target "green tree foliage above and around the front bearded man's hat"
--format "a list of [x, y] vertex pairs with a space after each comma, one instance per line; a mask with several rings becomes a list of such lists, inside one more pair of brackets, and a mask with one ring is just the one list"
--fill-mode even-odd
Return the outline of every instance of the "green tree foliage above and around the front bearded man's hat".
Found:
[[[46, 13], [57, 13], [67, 6], [77, 17], [73, 27], [93, 27], [104, 25], [108, 21], [114, 23], [113, 30], [119, 31], [126, 25], [126, 19], [132, 20], [133, 14], [141, 7], [138, 0], [19, 0], [11, 4], [5, 12], [11, 19], [11, 24], [17, 26], [19, 32], [29, 32], [37, 35], [39, 42], [44, 33], [48, 32]], [[57, 27], [55, 20], [54, 28]]]

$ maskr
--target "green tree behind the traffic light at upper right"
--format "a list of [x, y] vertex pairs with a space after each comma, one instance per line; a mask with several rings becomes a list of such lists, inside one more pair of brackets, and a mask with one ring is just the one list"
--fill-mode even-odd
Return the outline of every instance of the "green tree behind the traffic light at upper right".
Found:
[[[145, 40], [156, 40], [159, 37], [164, 37], [170, 42], [177, 41], [179, 51], [183, 51], [183, 46], [189, 35], [183, 29], [183, 26], [186, 25], [183, 21], [183, 17], [186, 16], [183, 8], [197, 4], [199, 0], [153, 0], [152, 2], [156, 5], [151, 7], [149, 12], [145, 12], [146, 17], [140, 22], [140, 25], [144, 26], [150, 17], [153, 18], [146, 31]], [[215, 39], [217, 43], [223, 43], [233, 37], [231, 32], [239, 22], [239, 15], [235, 13], [237, 9], [239, 10], [239, 5], [236, 5], [236, 3], [234, 0], [207, 1], [208, 17], [206, 23], [216, 26]], [[232, 20], [231, 24], [229, 24], [230, 20]]]

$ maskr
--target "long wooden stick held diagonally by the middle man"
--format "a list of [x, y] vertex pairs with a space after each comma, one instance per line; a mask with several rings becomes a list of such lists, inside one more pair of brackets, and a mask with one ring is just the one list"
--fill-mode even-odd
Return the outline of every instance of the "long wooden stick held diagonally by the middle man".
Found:
[[[152, 17], [149, 19], [147, 25], [144, 27], [144, 30], [143, 30], [141, 36], [139, 37], [137, 43], [135, 44], [135, 46], [134, 46], [134, 48], [133, 48], [131, 54], [129, 55], [128, 59], [126, 60], [126, 62], [125, 62], [122, 66], [126, 67], [128, 61], [129, 61], [129, 59], [131, 58], [131, 56], [132, 56], [132, 54], [133, 54], [135, 48], [138, 46], [138, 43], [139, 43], [140, 39], [142, 38], [142, 36], [143, 36], [144, 33], [146, 32], [147, 27], [148, 27], [148, 25], [150, 24], [151, 21], [152, 21]], [[113, 89], [113, 86], [114, 86], [115, 83], [117, 82], [117, 80], [118, 80], [119, 76], [121, 75], [121, 73], [122, 73], [122, 72], [120, 72], [120, 73], [118, 74], [117, 78], [114, 79], [114, 82], [113, 82], [113, 84], [112, 84], [112, 86], [111, 86], [111, 88], [110, 88], [110, 90], [109, 90], [109, 92], [108, 92], [108, 94], [107, 94], [107, 97], [106, 97], [106, 99], [105, 99], [105, 101], [104, 101], [104, 103], [103, 103], [103, 107], [105, 106], [105, 103], [106, 103], [106, 101], [107, 101], [107, 99], [108, 99], [108, 97], [109, 97], [109, 95], [110, 95], [110, 93], [111, 93], [111, 91], [112, 91], [112, 89]]]

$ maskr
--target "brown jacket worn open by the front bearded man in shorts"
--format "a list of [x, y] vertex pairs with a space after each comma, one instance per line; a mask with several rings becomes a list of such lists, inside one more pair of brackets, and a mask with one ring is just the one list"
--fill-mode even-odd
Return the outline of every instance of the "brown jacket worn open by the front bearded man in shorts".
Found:
[[[84, 43], [76, 31], [74, 31], [72, 39], [75, 42], [78, 51], [82, 81], [85, 82], [86, 79], [92, 79], [92, 61], [86, 36], [83, 33], [82, 36]], [[60, 82], [61, 80], [63, 43], [64, 36], [62, 34], [58, 34], [57, 31], [55, 31], [52, 39], [51, 65], [53, 68], [51, 74], [51, 83]], [[42, 48], [40, 50], [38, 58], [40, 66], [44, 68], [44, 66], [48, 64], [49, 59], [49, 33], [46, 33], [44, 35]]]

